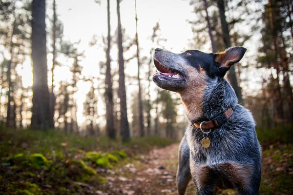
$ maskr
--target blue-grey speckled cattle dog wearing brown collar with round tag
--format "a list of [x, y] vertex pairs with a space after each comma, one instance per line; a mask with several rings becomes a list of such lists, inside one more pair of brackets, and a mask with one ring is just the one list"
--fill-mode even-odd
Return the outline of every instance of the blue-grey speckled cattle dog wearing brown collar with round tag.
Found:
[[185, 194], [191, 178], [196, 195], [215, 195], [218, 189], [230, 188], [239, 195], [259, 195], [261, 147], [255, 122], [224, 78], [245, 52], [239, 46], [210, 54], [155, 49], [158, 72], [152, 79], [160, 88], [180, 95], [189, 121], [179, 146], [178, 195]]

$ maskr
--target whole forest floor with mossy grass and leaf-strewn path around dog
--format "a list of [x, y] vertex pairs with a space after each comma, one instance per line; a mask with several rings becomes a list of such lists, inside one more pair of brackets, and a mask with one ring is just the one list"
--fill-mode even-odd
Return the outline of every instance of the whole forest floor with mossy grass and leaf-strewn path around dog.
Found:
[[[179, 143], [0, 131], [0, 195], [176, 195]], [[293, 194], [293, 145], [263, 146], [261, 195]], [[186, 195], [194, 195], [189, 182]], [[232, 190], [219, 195], [236, 195]]]

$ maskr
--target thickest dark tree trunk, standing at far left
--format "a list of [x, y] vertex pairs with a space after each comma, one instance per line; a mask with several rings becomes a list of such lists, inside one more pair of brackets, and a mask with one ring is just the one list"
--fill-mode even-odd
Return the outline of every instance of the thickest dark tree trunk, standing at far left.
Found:
[[46, 129], [50, 122], [46, 51], [46, 1], [32, 1], [33, 107], [31, 127]]

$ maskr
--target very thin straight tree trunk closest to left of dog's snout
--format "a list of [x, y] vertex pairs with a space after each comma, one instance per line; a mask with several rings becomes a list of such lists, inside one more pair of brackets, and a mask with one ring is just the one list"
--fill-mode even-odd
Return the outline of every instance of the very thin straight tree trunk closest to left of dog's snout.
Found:
[[140, 137], [145, 136], [145, 130], [144, 130], [144, 116], [143, 116], [143, 101], [142, 101], [142, 88], [140, 84], [140, 61], [139, 61], [139, 43], [138, 43], [138, 30], [137, 30], [137, 11], [136, 11], [136, 0], [135, 0], [135, 24], [136, 24], [136, 57], [137, 57], [137, 80], [138, 80], [138, 127], [139, 127], [139, 133]]

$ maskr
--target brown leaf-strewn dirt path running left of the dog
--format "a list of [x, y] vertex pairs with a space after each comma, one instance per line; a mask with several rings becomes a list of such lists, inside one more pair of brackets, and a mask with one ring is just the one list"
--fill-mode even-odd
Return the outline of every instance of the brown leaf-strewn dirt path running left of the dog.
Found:
[[[136, 160], [122, 168], [108, 171], [108, 183], [98, 195], [177, 195], [176, 170], [179, 144], [153, 149], [149, 155], [137, 156]], [[194, 195], [195, 188], [189, 183], [187, 195]]]

